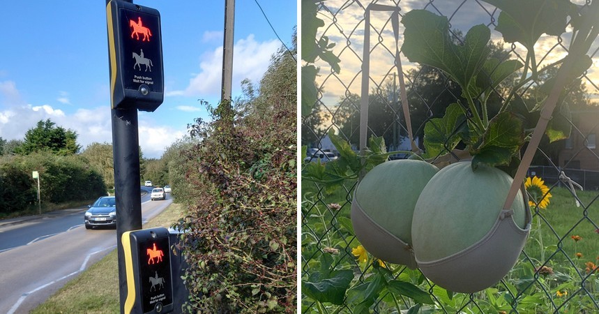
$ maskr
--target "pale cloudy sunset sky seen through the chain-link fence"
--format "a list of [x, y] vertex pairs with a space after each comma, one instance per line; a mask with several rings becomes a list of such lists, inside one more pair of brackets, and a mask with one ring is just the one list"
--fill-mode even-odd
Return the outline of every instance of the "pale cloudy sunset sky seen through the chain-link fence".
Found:
[[[317, 36], [327, 36], [328, 39], [335, 43], [332, 48], [333, 53], [340, 58], [340, 73], [331, 73], [331, 66], [324, 61], [316, 63], [320, 67], [317, 84], [324, 85], [322, 93], [322, 102], [334, 112], [335, 106], [340, 99], [344, 98], [347, 92], [353, 94], [361, 94], [362, 82], [362, 56], [363, 56], [363, 38], [365, 33], [364, 15], [368, 3], [372, 1], [353, 1], [348, 3], [344, 0], [328, 0], [324, 5], [328, 10], [321, 10], [319, 17], [324, 20], [325, 26], [319, 28]], [[397, 0], [380, 0], [379, 5], [395, 6]], [[483, 1], [475, 0], [443, 0], [443, 1], [426, 1], [426, 0], [402, 0], [400, 3], [400, 15], [403, 15], [413, 9], [430, 10], [437, 15], [444, 15], [450, 19], [452, 29], [459, 29], [464, 34], [477, 25], [485, 24], [490, 27], [491, 40], [501, 42], [502, 36], [499, 31], [495, 31], [492, 22], [496, 23], [499, 17], [499, 10], [495, 10], [494, 6]], [[581, 4], [583, 0], [573, 0], [573, 3]], [[333, 17], [333, 14], [335, 15]], [[493, 18], [490, 16], [493, 14]], [[374, 84], [382, 84], [389, 77], [393, 77], [393, 73], [397, 73], [394, 65], [395, 57], [395, 37], [393, 36], [393, 28], [390, 22], [391, 12], [371, 11], [370, 15], [370, 89]], [[331, 27], [331, 23], [334, 24]], [[567, 29], [571, 31], [571, 29]], [[398, 47], [403, 43], [403, 24], [399, 25]], [[562, 36], [563, 43], [568, 45], [570, 33]], [[536, 59], [542, 60], [540, 63], [548, 65], [558, 59], [561, 59], [566, 52], [561, 47], [554, 47], [557, 43], [554, 36], [541, 36], [535, 47]], [[515, 52], [520, 54], [520, 57], [526, 57], [526, 51], [520, 44], [515, 45]], [[588, 91], [591, 92], [589, 97], [591, 100], [597, 101], [599, 98], [598, 89], [594, 86], [599, 86], [599, 53], [596, 52], [599, 46], [599, 40], [596, 40], [595, 45], [591, 48], [593, 55], [593, 67], [587, 72], [584, 84], [587, 85]], [[510, 49], [509, 43], [503, 43], [506, 50]], [[402, 69], [405, 72], [417, 65], [410, 63], [403, 54]], [[515, 54], [511, 54], [510, 59], [516, 59]], [[522, 60], [522, 59], [521, 59]], [[522, 60], [524, 63], [524, 60]], [[370, 90], [369, 89], [369, 90]]]

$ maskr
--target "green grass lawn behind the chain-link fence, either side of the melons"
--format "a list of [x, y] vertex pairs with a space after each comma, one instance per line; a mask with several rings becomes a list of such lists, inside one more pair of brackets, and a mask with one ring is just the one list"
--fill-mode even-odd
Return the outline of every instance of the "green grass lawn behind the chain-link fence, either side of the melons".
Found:
[[[350, 218], [349, 202], [353, 193], [350, 189], [354, 184], [355, 181], [348, 181], [344, 184], [345, 188], [328, 194], [324, 189], [319, 190], [313, 182], [304, 180], [301, 191], [303, 230], [321, 233], [321, 243], [328, 243], [331, 232], [339, 230], [331, 226]], [[596, 224], [599, 224], [599, 200], [596, 198], [599, 198], [599, 192], [577, 190], [577, 196], [582, 201], [580, 207], [576, 206], [575, 197], [566, 188], [552, 188], [550, 193], [552, 198], [547, 209], [531, 208], [533, 222], [524, 247], [526, 254], [537, 264], [543, 263], [540, 260], [550, 259], [549, 266], [566, 263], [568, 257], [576, 264], [582, 265], [588, 261], [598, 263], [599, 234]], [[340, 204], [342, 208], [339, 211], [326, 209], [328, 204], [333, 203]], [[572, 236], [582, 239], [575, 241]], [[544, 248], [543, 251], [541, 248]], [[311, 251], [306, 247], [304, 252]], [[576, 253], [581, 253], [582, 257], [577, 257]], [[309, 258], [310, 255], [305, 257]]]

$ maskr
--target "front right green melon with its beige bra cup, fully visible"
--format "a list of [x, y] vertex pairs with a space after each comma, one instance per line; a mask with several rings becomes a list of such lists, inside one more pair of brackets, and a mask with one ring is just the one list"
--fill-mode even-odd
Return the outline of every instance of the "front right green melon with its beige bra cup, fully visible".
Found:
[[503, 211], [513, 179], [494, 167], [448, 165], [420, 193], [412, 220], [418, 267], [453, 292], [494, 285], [515, 264], [530, 230], [522, 191]]

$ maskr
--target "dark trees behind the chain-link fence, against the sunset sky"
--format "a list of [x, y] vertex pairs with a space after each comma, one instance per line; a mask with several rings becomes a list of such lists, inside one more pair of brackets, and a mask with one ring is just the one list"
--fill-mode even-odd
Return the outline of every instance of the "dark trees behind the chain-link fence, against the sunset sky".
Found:
[[[452, 31], [453, 40], [460, 44], [463, 42], [462, 32]], [[491, 57], [496, 59], [507, 59], [509, 52], [503, 50], [501, 43], [488, 43]], [[414, 137], [423, 139], [424, 127], [432, 118], [440, 118], [445, 114], [446, 108], [451, 103], [466, 103], [461, 97], [462, 89], [450, 80], [443, 71], [426, 65], [418, 65], [413, 70], [408, 70], [404, 77], [407, 85], [407, 98], [411, 118], [411, 126]], [[402, 136], [407, 136], [405, 118], [401, 107], [400, 87], [394, 82], [393, 77], [383, 82], [378, 87], [370, 90], [370, 102], [368, 105], [368, 134], [384, 137], [387, 145], [400, 144]], [[508, 80], [506, 80], [508, 81]], [[496, 88], [495, 93], [490, 96], [490, 114], [499, 110], [501, 105], [501, 92], [503, 85]], [[342, 135], [351, 144], [358, 144], [360, 124], [360, 102], [361, 98], [356, 94], [349, 94], [340, 98], [333, 117], [333, 123], [341, 129]], [[308, 116], [310, 117], [310, 116]], [[401, 125], [400, 125], [401, 124]], [[303, 134], [302, 130], [302, 134]], [[302, 137], [303, 141], [303, 137]], [[422, 144], [422, 141], [420, 141]], [[422, 147], [421, 147], [422, 148]]]

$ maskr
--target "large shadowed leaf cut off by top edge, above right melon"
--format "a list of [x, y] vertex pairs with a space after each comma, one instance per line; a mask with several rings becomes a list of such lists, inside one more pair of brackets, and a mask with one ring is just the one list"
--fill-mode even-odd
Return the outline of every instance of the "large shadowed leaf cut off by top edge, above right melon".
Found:
[[532, 50], [543, 34], [559, 36], [566, 31], [572, 3], [568, 0], [483, 0], [501, 10], [496, 31], [508, 43], [522, 43]]

